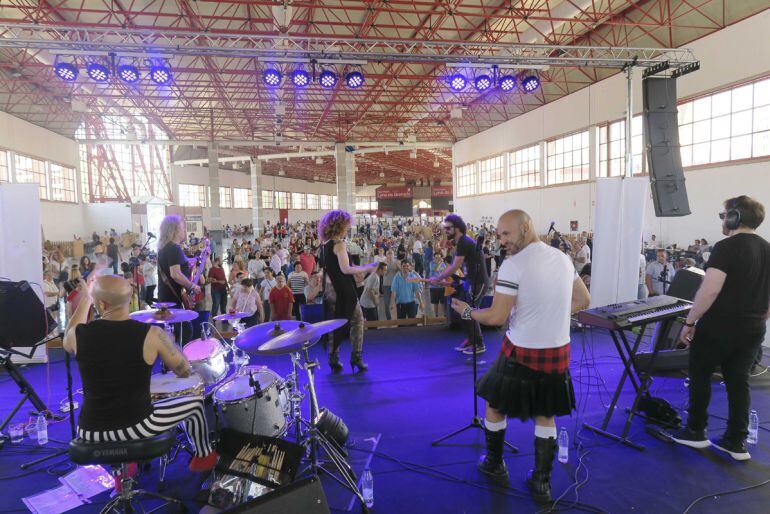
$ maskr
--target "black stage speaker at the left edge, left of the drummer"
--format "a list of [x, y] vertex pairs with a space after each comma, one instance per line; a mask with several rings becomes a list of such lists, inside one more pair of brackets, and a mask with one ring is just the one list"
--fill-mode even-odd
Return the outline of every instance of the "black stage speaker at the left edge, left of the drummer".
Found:
[[27, 281], [0, 281], [0, 347], [34, 346], [56, 327]]

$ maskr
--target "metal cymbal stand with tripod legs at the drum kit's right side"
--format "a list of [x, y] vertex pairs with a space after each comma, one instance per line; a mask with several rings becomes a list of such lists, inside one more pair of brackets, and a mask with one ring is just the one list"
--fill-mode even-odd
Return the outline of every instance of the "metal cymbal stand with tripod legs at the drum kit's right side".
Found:
[[[364, 497], [358, 490], [358, 480], [356, 478], [356, 474], [353, 472], [353, 469], [345, 460], [345, 457], [342, 455], [337, 444], [333, 441], [330, 441], [318, 430], [316, 426], [319, 409], [318, 396], [316, 395], [315, 391], [314, 376], [315, 369], [319, 367], [319, 364], [317, 360], [310, 360], [308, 348], [308, 346], [302, 348], [302, 357], [304, 360], [305, 372], [307, 373], [307, 389], [310, 395], [310, 422], [299, 418], [299, 422], [307, 428], [307, 433], [305, 435], [305, 445], [309, 449], [310, 466], [306, 468], [306, 471], [309, 470], [310, 474], [314, 476], [320, 476], [321, 473], [325, 473], [342, 487], [352, 492], [356, 498], [358, 498], [358, 500], [361, 502], [362, 512], [369, 512], [366, 507], [366, 503], [364, 502]], [[339, 473], [339, 477], [332, 471], [323, 467], [323, 464], [319, 462], [319, 449], [324, 450], [327, 457], [329, 457], [329, 462], [334, 465], [336, 471]]]

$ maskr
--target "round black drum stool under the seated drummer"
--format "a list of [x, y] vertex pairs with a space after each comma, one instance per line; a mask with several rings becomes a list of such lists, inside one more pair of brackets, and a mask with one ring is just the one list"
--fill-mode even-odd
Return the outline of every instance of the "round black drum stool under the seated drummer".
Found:
[[[75, 464], [108, 464], [120, 467], [123, 491], [104, 506], [102, 513], [107, 512], [144, 512], [139, 497], [164, 500], [165, 503], [149, 512], [163, 509], [169, 504], [176, 505], [181, 511], [186, 510], [181, 500], [163, 496], [158, 493], [133, 489], [134, 479], [128, 476], [130, 462], [143, 462], [167, 454], [176, 442], [176, 430], [170, 430], [155, 437], [134, 441], [92, 443], [80, 438], [73, 439], [69, 445], [70, 460]], [[138, 510], [135, 508], [138, 506]]]

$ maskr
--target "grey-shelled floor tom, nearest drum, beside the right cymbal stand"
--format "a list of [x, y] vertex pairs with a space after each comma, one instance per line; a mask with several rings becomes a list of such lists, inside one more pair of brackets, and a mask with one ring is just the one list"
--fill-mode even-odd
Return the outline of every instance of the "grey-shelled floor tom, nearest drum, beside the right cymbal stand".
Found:
[[[259, 383], [256, 393], [249, 385], [251, 376]], [[283, 379], [265, 366], [247, 366], [220, 385], [214, 404], [225, 427], [268, 437], [286, 433], [288, 394]]]

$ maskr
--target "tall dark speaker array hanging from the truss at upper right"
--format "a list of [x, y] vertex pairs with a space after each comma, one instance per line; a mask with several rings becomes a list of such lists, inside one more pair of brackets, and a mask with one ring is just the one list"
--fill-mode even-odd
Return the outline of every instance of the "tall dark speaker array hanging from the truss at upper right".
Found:
[[690, 202], [679, 151], [676, 79], [648, 77], [642, 81], [644, 136], [652, 202], [658, 217], [686, 216]]

